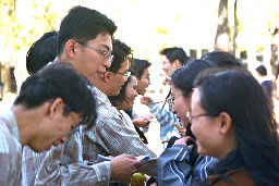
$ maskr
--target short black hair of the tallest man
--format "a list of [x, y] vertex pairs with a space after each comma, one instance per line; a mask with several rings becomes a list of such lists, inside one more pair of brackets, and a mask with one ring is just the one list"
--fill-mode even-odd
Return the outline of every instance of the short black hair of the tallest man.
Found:
[[114, 23], [97, 10], [84, 7], [72, 8], [62, 20], [58, 35], [58, 54], [70, 39], [86, 44], [99, 34], [110, 34], [117, 30]]

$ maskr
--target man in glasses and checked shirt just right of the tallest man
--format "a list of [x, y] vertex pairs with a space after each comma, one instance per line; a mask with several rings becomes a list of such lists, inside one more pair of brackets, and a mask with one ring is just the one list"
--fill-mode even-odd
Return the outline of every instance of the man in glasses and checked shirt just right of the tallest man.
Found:
[[[95, 127], [83, 132], [83, 158], [96, 160], [98, 154], [116, 157], [121, 153], [156, 158], [156, 154], [141, 141], [136, 131], [125, 123], [108, 99], [108, 96], [118, 96], [121, 86], [128, 80], [131, 60], [129, 55], [132, 54], [131, 48], [120, 40], [113, 40], [112, 46], [113, 62], [107, 69], [108, 72], [104, 78], [95, 85], [98, 88], [96, 88], [98, 117]], [[155, 176], [156, 162], [144, 163], [138, 172]]]

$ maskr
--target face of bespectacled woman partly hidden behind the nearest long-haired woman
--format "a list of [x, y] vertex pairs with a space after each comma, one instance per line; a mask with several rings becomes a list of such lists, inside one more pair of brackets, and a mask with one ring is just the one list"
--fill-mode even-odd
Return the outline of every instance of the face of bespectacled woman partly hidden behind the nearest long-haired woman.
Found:
[[172, 112], [177, 114], [177, 117], [182, 123], [183, 127], [189, 125], [189, 113], [191, 111], [191, 94], [187, 97], [183, 94], [181, 89], [171, 85], [171, 96], [173, 99]]

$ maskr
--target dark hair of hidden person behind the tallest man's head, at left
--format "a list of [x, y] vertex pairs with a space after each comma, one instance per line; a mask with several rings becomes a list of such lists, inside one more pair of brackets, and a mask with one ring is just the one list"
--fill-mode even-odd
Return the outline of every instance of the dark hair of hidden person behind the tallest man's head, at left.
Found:
[[31, 46], [26, 54], [26, 69], [29, 75], [56, 59], [57, 38], [58, 32], [48, 32]]

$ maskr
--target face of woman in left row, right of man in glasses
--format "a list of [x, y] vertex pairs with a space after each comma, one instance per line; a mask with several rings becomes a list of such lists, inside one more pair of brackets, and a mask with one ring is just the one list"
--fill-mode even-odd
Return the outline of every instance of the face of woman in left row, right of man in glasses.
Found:
[[126, 101], [121, 102], [121, 110], [130, 110], [133, 108], [135, 97], [137, 97], [137, 82], [135, 76], [131, 76], [131, 80], [126, 85], [126, 90], [125, 90], [125, 96], [126, 96]]

